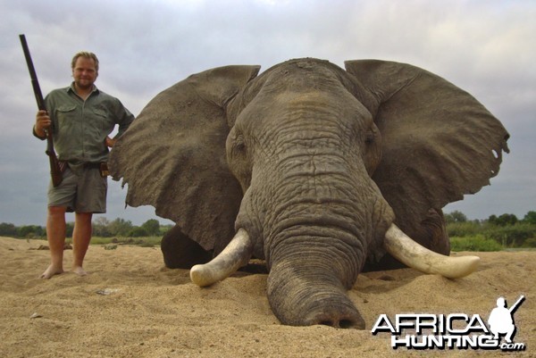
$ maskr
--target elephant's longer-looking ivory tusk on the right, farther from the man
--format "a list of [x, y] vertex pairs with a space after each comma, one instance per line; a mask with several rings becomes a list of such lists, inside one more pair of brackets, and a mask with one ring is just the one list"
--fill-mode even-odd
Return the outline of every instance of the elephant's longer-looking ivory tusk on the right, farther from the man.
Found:
[[384, 247], [399, 262], [424, 273], [440, 274], [448, 279], [467, 276], [478, 267], [480, 257], [450, 257], [434, 253], [417, 244], [395, 224], [385, 233]]

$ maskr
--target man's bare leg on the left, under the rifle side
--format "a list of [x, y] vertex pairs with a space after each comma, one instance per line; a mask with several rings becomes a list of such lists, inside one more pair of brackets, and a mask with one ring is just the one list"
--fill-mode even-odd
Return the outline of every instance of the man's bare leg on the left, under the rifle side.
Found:
[[65, 244], [65, 212], [66, 208], [51, 206], [46, 216], [46, 239], [50, 248], [50, 265], [39, 276], [41, 279], [50, 279], [54, 275], [63, 273], [63, 245]]

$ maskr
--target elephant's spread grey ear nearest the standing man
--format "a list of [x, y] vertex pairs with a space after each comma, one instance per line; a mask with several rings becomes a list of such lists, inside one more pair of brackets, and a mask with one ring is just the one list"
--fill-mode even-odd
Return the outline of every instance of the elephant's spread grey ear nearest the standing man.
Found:
[[153, 205], [205, 250], [234, 235], [242, 191], [226, 162], [226, 104], [259, 66], [197, 73], [155, 96], [110, 154], [113, 179], [128, 184], [126, 203]]

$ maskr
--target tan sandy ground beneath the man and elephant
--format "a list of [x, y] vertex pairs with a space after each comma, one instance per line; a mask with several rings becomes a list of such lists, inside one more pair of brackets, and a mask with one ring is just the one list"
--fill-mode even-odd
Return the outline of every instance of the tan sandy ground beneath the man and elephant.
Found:
[[[0, 357], [506, 357], [536, 356], [536, 252], [478, 253], [479, 271], [450, 280], [410, 269], [359, 276], [348, 293], [367, 329], [282, 326], [265, 296], [266, 275], [239, 272], [199, 288], [163, 267], [159, 248], [90, 246], [85, 268], [38, 279], [46, 242], [0, 237]], [[460, 253], [467, 254], [467, 253]], [[65, 268], [71, 264], [65, 252]], [[408, 350], [371, 334], [381, 313], [480, 314], [498, 296], [513, 304], [524, 352]]]

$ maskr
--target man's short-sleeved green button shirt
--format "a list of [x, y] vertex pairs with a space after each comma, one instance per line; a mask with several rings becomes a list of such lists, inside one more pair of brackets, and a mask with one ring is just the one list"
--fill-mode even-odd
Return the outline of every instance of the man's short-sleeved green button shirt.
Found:
[[115, 138], [121, 137], [134, 116], [119, 99], [96, 87], [84, 101], [73, 86], [54, 89], [45, 98], [58, 159], [71, 166], [105, 162], [109, 153], [106, 136], [119, 125]]

